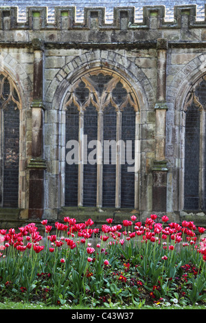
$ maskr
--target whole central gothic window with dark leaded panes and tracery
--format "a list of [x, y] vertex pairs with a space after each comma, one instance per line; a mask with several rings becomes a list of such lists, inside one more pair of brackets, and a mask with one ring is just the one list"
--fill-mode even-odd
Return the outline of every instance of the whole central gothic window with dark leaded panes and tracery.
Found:
[[139, 108], [128, 82], [104, 69], [90, 71], [69, 89], [64, 109], [65, 205], [137, 207]]

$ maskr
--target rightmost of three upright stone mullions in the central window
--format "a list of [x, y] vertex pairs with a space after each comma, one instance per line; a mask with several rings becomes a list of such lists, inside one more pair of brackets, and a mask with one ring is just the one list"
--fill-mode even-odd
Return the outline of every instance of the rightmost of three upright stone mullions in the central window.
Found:
[[[117, 137], [116, 137], [116, 195], [115, 208], [121, 207], [121, 144], [122, 137], [122, 112], [117, 111]], [[119, 142], [119, 144], [117, 144]]]

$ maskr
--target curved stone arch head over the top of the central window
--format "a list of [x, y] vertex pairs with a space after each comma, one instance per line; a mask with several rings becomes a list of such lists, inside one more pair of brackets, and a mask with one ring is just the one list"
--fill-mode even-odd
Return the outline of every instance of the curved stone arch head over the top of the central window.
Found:
[[141, 109], [153, 109], [156, 96], [155, 89], [153, 89], [146, 74], [125, 56], [110, 50], [86, 52], [63, 66], [47, 87], [45, 93], [47, 108], [60, 109], [68, 84], [75, 82], [76, 77], [79, 78], [85, 71], [99, 68], [119, 73], [122, 78], [130, 82], [135, 93], [137, 93], [139, 107]]

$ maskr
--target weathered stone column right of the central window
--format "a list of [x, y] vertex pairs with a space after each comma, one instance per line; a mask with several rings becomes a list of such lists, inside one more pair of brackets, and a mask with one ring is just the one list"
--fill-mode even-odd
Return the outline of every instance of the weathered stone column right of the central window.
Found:
[[168, 40], [157, 39], [157, 102], [155, 104], [155, 161], [152, 167], [152, 210], [166, 211], [167, 201], [167, 162], [165, 161], [166, 126], [166, 66]]

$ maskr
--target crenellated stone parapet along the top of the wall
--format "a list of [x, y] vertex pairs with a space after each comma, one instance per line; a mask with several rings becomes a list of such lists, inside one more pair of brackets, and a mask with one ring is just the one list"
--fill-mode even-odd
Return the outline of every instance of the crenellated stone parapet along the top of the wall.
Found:
[[206, 27], [206, 19], [197, 19], [196, 5], [175, 5], [173, 21], [165, 21], [164, 5], [143, 7], [141, 23], [135, 22], [133, 6], [113, 8], [113, 23], [106, 23], [105, 13], [104, 7], [84, 8], [84, 21], [77, 23], [75, 6], [57, 6], [54, 23], [48, 23], [47, 7], [35, 6], [27, 7], [26, 21], [21, 23], [18, 21], [18, 7], [0, 7], [0, 30], [161, 30]]

